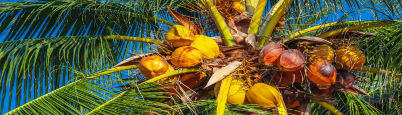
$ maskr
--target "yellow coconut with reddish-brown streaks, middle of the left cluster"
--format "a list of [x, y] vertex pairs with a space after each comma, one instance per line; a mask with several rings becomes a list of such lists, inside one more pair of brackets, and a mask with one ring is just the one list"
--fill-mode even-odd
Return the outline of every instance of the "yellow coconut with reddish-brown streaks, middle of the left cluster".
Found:
[[170, 62], [179, 68], [195, 67], [202, 62], [201, 52], [191, 46], [179, 47], [173, 51]]

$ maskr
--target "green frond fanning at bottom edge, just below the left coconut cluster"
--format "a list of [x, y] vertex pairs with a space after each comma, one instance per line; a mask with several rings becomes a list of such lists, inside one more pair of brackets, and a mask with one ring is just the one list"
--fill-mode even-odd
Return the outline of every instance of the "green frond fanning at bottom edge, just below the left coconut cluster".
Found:
[[[148, 82], [144, 84], [131, 84], [131, 89], [121, 92], [113, 99], [103, 103], [96, 109], [88, 113], [88, 115], [124, 115], [124, 114], [146, 114], [154, 115], [160, 113], [170, 113], [174, 111], [171, 107], [164, 103], [150, 101], [155, 98], [167, 98], [164, 95], [168, 92], [154, 92], [160, 90], [161, 84], [166, 84], [174, 81], [167, 82]], [[168, 110], [166, 110], [166, 108]]]

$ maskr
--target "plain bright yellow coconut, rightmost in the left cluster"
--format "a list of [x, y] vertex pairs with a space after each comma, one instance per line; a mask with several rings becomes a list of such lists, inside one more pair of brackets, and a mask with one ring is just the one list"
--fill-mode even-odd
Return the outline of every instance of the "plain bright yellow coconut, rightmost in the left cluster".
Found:
[[190, 46], [197, 48], [201, 52], [202, 57], [214, 59], [219, 56], [219, 47], [215, 40], [205, 35], [195, 35], [194, 37], [196, 39]]

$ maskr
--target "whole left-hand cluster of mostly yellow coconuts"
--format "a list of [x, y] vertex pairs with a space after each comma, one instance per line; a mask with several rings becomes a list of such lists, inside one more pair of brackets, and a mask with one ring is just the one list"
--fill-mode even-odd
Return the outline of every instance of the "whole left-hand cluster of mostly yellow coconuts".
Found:
[[[213, 39], [205, 35], [194, 35], [188, 28], [181, 25], [174, 25], [166, 34], [165, 41], [172, 47], [164, 47], [164, 49], [174, 49], [171, 53], [162, 57], [158, 55], [144, 57], [139, 62], [139, 71], [148, 79], [172, 72], [174, 68], [196, 67], [201, 65], [203, 58], [211, 60], [219, 56], [219, 47]], [[205, 72], [194, 72], [170, 76], [156, 82], [178, 80], [181, 84], [176, 82], [164, 84], [166, 88], [162, 89], [162, 91], [177, 92], [178, 85], [183, 89], [192, 89], [201, 86], [206, 79]]]

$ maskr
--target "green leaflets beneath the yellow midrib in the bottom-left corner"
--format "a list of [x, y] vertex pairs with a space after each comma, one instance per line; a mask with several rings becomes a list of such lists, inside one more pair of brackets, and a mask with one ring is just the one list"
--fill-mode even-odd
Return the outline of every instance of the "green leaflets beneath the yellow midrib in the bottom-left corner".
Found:
[[43, 95], [5, 115], [84, 115], [116, 94], [105, 86], [78, 80]]

